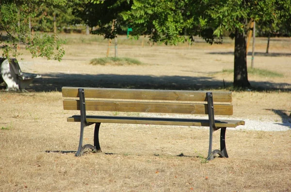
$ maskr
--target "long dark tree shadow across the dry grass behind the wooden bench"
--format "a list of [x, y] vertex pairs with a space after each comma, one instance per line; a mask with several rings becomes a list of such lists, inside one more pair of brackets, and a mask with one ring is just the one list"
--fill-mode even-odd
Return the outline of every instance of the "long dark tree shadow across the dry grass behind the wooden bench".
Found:
[[[252, 82], [252, 90], [290, 91], [291, 84], [274, 82]], [[226, 88], [232, 82], [226, 82]], [[105, 87], [137, 89], [173, 89], [173, 90], [209, 90], [223, 89], [223, 79], [192, 76], [152, 76], [118, 74], [67, 74], [47, 73], [42, 78], [34, 79], [28, 91], [61, 91], [62, 87]], [[0, 87], [1, 88], [1, 87]]]

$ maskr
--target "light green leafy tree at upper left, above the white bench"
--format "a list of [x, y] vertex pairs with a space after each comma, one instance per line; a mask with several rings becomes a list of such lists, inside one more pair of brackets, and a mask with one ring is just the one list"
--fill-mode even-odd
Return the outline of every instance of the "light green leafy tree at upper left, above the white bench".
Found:
[[[54, 35], [31, 33], [30, 22], [42, 7], [62, 8], [67, 0], [0, 0], [0, 43], [3, 57], [19, 55], [20, 43], [32, 53], [32, 57], [61, 60], [64, 50]], [[45, 5], [45, 6], [44, 6]]]

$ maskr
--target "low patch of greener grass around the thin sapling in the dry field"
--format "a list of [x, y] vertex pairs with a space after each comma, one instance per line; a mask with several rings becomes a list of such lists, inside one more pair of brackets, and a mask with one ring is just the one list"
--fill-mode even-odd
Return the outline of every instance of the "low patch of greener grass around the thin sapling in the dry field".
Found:
[[142, 62], [140, 62], [137, 59], [132, 59], [128, 57], [102, 57], [97, 59], [92, 59], [90, 61], [91, 65], [141, 65]]

